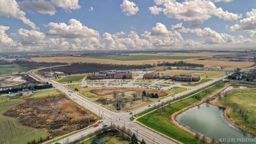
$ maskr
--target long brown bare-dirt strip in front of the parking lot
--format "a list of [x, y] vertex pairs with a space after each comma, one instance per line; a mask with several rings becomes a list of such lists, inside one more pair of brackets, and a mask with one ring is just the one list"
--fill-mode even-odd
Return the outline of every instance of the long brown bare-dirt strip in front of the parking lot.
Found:
[[[113, 94], [113, 92], [122, 93], [122, 92], [139, 92], [142, 93], [143, 90], [146, 90], [146, 92], [150, 93], [157, 93], [159, 97], [166, 96], [168, 93], [163, 92], [161, 90], [151, 90], [151, 89], [145, 89], [145, 88], [87, 88], [89, 92], [93, 94], [97, 94], [98, 96], [106, 96], [109, 94]], [[91, 90], [90, 90], [91, 89]]]

